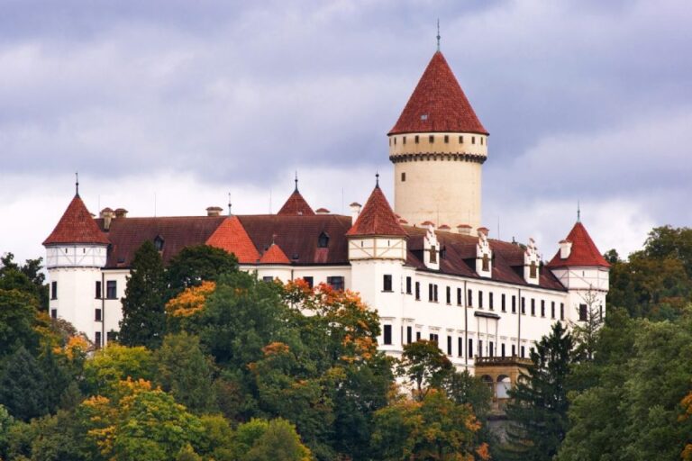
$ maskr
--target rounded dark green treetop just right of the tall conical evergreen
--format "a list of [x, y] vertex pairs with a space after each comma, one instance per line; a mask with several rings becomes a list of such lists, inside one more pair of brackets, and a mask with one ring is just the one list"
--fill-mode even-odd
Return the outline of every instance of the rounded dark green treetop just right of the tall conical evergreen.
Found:
[[189, 286], [214, 282], [219, 276], [238, 269], [238, 259], [224, 249], [197, 245], [182, 249], [168, 263], [168, 286], [171, 297]]

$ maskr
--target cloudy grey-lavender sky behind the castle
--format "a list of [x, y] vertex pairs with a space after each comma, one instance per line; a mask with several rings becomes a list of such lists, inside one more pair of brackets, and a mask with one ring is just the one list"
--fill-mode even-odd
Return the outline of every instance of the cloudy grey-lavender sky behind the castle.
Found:
[[[488, 131], [483, 223], [550, 259], [692, 223], [687, 0], [0, 0], [0, 254], [74, 194], [132, 216], [348, 213], [435, 51]], [[423, 192], [424, 193], [424, 192]]]

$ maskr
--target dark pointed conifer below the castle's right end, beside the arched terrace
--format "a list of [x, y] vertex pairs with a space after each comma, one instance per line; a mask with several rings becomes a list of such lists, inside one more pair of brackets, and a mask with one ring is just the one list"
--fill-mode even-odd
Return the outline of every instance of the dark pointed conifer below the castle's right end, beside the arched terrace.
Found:
[[567, 380], [574, 342], [558, 321], [531, 352], [528, 375], [522, 374], [509, 395], [507, 417], [509, 457], [550, 460], [568, 429]]

